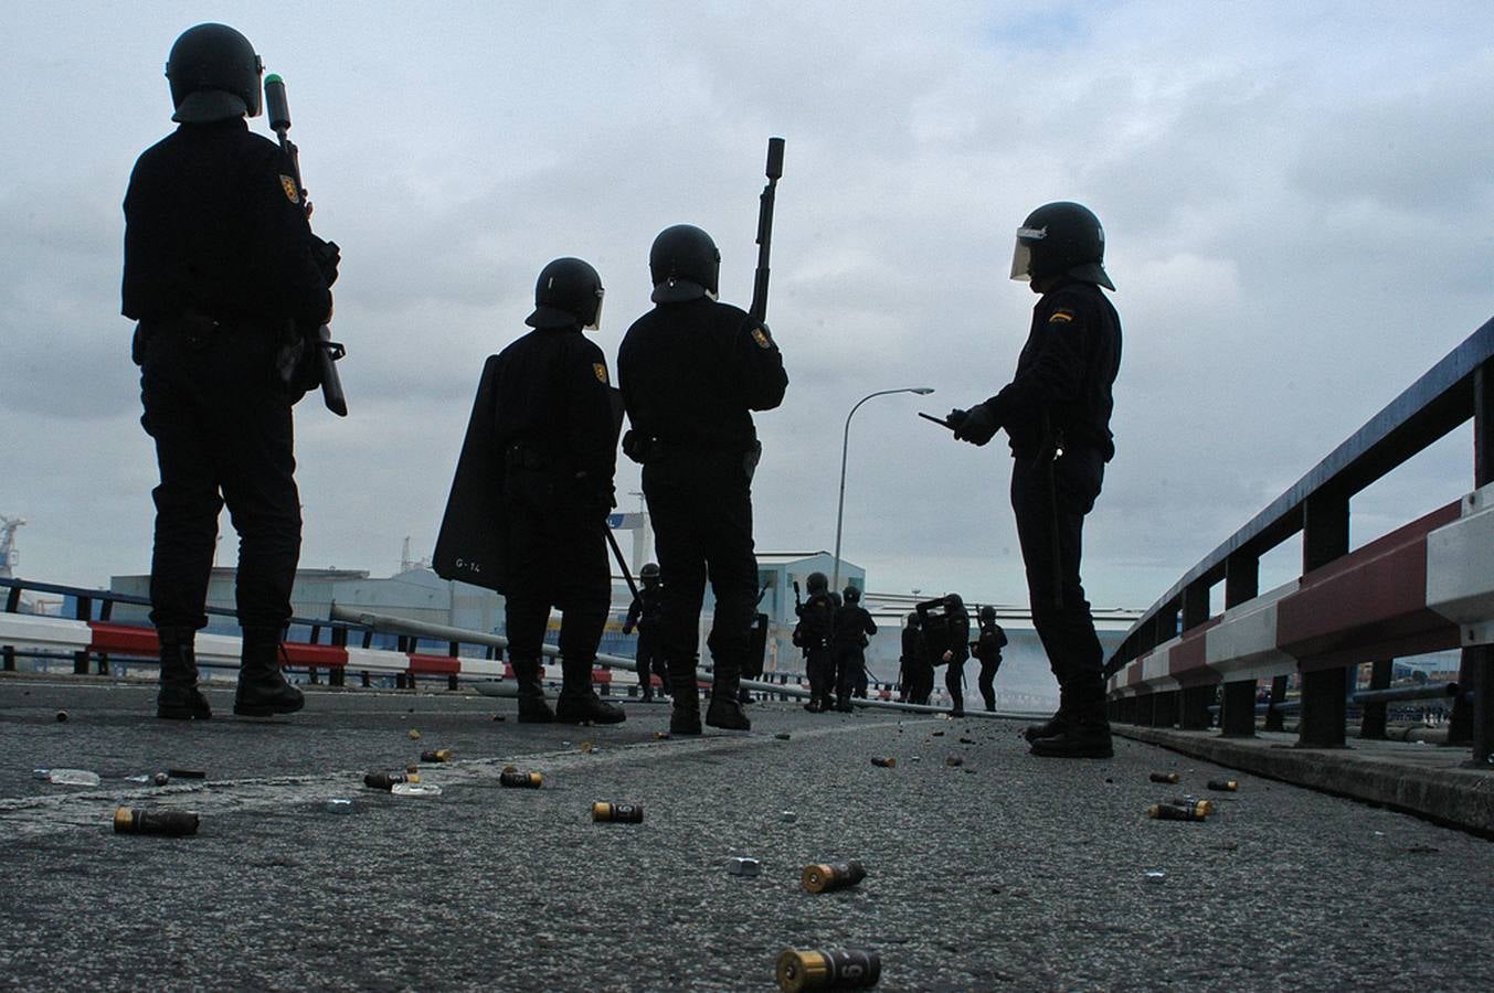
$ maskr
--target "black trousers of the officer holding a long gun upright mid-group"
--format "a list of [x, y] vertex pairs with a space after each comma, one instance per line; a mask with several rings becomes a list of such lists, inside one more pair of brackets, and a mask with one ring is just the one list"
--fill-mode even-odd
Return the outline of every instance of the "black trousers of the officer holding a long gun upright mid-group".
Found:
[[740, 673], [757, 612], [751, 488], [741, 452], [692, 449], [650, 458], [642, 484], [663, 581], [666, 664], [693, 664], [710, 581], [716, 617], [707, 645], [719, 670]]

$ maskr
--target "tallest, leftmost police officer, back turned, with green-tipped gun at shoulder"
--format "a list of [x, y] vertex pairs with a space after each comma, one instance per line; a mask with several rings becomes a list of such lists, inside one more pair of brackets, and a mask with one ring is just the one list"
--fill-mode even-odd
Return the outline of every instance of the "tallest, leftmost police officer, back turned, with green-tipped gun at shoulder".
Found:
[[[140, 423], [161, 482], [151, 555], [151, 621], [160, 636], [157, 717], [206, 720], [194, 638], [224, 503], [239, 532], [236, 600], [244, 630], [233, 712], [291, 714], [300, 690], [279, 672], [281, 632], [300, 557], [291, 436], [299, 394], [276, 352], [297, 323], [332, 314], [335, 261], [306, 221], [294, 169], [252, 134], [263, 64], [247, 37], [199, 24], [166, 63], [181, 127], [134, 164], [124, 197], [123, 312], [139, 321]], [[326, 270], [323, 269], [326, 266]]]

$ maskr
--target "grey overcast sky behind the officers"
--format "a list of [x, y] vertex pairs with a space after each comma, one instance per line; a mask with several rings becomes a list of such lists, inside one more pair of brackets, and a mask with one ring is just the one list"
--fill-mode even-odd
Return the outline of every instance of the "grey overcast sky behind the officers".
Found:
[[[722, 299], [746, 306], [769, 134], [787, 139], [768, 321], [790, 384], [757, 418], [759, 550], [832, 548], [847, 411], [937, 390], [852, 423], [843, 554], [874, 591], [1026, 600], [1004, 436], [971, 448], [914, 412], [1008, 381], [1035, 303], [1007, 279], [1013, 233], [1041, 203], [1100, 215], [1125, 327], [1085, 536], [1101, 606], [1152, 603], [1494, 312], [1482, 1], [0, 13], [0, 514], [28, 521], [30, 579], [148, 569], [120, 203], [172, 127], [170, 43], [200, 21], [285, 78], [314, 227], [342, 246], [351, 415], [297, 408], [306, 567], [388, 575], [405, 536], [429, 554], [483, 360], [526, 330], [548, 260], [602, 273], [613, 364], [669, 224], [714, 234]], [[1355, 500], [1355, 541], [1469, 490], [1469, 452], [1463, 429]], [[636, 490], [620, 458], [620, 509]]]

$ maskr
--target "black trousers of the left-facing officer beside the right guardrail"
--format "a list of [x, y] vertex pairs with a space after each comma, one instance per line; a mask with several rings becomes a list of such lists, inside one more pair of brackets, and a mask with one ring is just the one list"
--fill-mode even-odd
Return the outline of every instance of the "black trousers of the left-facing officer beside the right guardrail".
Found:
[[1104, 455], [1070, 449], [1056, 461], [1019, 455], [1011, 467], [1011, 509], [1026, 566], [1032, 626], [1058, 678], [1061, 709], [1104, 712], [1104, 650], [1079, 579], [1085, 515], [1104, 481]]

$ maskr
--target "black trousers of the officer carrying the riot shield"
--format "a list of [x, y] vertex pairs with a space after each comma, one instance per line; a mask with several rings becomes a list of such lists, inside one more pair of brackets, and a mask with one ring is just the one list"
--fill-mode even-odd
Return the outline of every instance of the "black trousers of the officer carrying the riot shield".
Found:
[[563, 478], [517, 467], [503, 473], [502, 514], [509, 657], [539, 659], [550, 608], [556, 606], [562, 614], [560, 657], [590, 664], [613, 600], [605, 520], [578, 506]]

